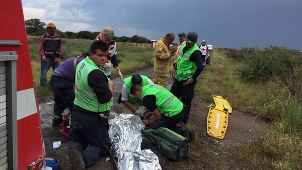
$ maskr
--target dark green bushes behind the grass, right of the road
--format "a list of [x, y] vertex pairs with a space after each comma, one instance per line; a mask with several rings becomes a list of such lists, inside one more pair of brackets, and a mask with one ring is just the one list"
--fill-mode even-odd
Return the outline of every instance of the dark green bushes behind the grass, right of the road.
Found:
[[243, 48], [230, 50], [229, 55], [242, 61], [242, 66], [235, 71], [241, 79], [254, 83], [273, 80], [301, 100], [302, 54], [298, 50], [274, 46]]

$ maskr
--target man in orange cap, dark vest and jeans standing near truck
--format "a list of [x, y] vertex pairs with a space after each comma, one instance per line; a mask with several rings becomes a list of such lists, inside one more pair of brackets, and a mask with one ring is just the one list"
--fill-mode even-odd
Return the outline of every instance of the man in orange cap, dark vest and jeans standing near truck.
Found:
[[39, 54], [41, 58], [40, 86], [46, 87], [46, 74], [50, 67], [55, 70], [60, 65], [62, 55], [61, 37], [55, 33], [55, 25], [49, 23], [46, 26], [47, 33], [39, 38]]

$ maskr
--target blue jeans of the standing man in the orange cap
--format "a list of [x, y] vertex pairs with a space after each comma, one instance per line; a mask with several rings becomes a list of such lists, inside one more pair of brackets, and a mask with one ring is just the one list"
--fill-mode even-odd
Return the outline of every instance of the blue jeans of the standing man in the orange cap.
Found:
[[41, 59], [40, 86], [42, 88], [46, 87], [46, 74], [49, 68], [52, 67], [52, 70], [55, 70], [58, 66], [60, 66], [60, 62], [54, 62], [54, 58], [47, 60], [46, 62]]

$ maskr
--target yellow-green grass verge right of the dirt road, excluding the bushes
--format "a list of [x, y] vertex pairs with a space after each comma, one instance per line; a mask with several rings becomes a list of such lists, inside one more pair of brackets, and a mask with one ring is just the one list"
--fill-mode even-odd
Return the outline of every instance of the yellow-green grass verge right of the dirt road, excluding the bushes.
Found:
[[196, 96], [208, 103], [212, 102], [211, 95], [223, 96], [232, 109], [269, 122], [263, 141], [239, 148], [242, 159], [254, 167], [271, 164], [274, 169], [301, 169], [302, 105], [276, 82], [242, 81], [234, 74], [241, 63], [227, 57], [227, 52], [223, 49], [214, 51], [211, 66], [207, 66], [195, 88]]

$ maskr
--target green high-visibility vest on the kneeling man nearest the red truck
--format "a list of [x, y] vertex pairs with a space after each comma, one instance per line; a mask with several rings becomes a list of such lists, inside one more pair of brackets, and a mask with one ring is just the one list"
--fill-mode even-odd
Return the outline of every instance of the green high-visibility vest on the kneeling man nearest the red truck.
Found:
[[[75, 69], [75, 99], [73, 103], [91, 112], [105, 112], [110, 110], [113, 105], [113, 100], [111, 99], [108, 103], [99, 103], [97, 95], [89, 86], [88, 75], [95, 69], [99, 69], [103, 72], [90, 57], [86, 57], [78, 64], [77, 69]], [[107, 76], [105, 77], [107, 78]], [[109, 79], [107, 78], [107, 80], [109, 85]]]

